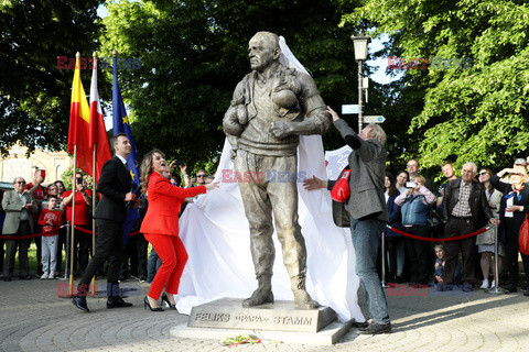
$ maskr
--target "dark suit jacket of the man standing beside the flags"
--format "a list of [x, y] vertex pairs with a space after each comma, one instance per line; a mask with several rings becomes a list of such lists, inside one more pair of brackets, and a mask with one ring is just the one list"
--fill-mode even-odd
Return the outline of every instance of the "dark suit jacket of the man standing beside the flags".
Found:
[[127, 217], [125, 196], [130, 191], [130, 187], [129, 170], [119, 157], [115, 156], [106, 162], [97, 183], [97, 191], [102, 196], [94, 218], [125, 222]]

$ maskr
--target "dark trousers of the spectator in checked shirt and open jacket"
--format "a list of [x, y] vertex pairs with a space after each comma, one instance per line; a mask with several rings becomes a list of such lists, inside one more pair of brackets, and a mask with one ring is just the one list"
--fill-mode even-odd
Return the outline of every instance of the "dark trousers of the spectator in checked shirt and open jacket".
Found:
[[[447, 238], [462, 235], [476, 231], [472, 224], [472, 219], [457, 219], [449, 217], [444, 226], [444, 234]], [[446, 249], [446, 264], [444, 265], [443, 283], [446, 285], [453, 284], [455, 266], [457, 264], [457, 256], [463, 256], [463, 275], [464, 284], [472, 284], [474, 280], [475, 256], [476, 256], [476, 237], [464, 240], [446, 241], [444, 243]]]

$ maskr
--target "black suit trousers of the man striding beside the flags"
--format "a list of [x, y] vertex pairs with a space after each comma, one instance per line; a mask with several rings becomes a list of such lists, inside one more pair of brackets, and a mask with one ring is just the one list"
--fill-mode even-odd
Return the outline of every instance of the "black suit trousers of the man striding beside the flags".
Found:
[[88, 285], [96, 274], [97, 270], [108, 258], [107, 273], [107, 295], [108, 297], [120, 296], [119, 294], [119, 270], [123, 258], [123, 231], [122, 222], [116, 222], [108, 219], [96, 219], [96, 253], [86, 266], [79, 285], [77, 295], [86, 296]]

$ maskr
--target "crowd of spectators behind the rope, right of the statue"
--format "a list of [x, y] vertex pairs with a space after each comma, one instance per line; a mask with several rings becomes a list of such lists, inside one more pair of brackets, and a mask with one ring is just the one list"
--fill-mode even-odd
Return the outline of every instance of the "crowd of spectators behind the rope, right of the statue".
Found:
[[[417, 160], [410, 160], [407, 168], [397, 177], [386, 173], [389, 220], [385, 230], [387, 254], [381, 261], [388, 273], [386, 282], [389, 285], [410, 282], [413, 287], [433, 284], [440, 290], [493, 288], [496, 286], [493, 263], [497, 231], [499, 272], [508, 277], [503, 287], [517, 292], [519, 255], [526, 275], [529, 273], [529, 257], [518, 248], [519, 230], [529, 212], [529, 190], [525, 187], [527, 161], [518, 158], [511, 168], [497, 174], [465, 163], [461, 177], [451, 163], [444, 163], [440, 166], [444, 180], [436, 189], [436, 197], [432, 183], [419, 174]], [[433, 224], [432, 217], [441, 217], [443, 221]], [[487, 224], [487, 230], [477, 235], [451, 239], [476, 232]], [[395, 229], [427, 240], [417, 240]], [[529, 276], [526, 278], [529, 284]], [[527, 286], [522, 286], [522, 290], [529, 296]]]

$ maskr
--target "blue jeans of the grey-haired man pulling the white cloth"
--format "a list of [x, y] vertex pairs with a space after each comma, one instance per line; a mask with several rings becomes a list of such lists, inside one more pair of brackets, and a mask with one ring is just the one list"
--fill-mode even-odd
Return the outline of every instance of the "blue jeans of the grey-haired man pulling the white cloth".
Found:
[[385, 222], [350, 219], [350, 234], [356, 256], [356, 274], [364, 286], [367, 309], [375, 322], [388, 323], [388, 304], [377, 273], [377, 255]]

